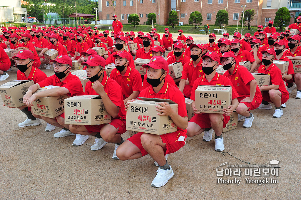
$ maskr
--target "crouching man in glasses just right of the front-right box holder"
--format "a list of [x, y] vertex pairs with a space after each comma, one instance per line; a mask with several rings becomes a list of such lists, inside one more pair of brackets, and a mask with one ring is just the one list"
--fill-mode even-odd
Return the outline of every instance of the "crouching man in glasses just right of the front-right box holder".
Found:
[[250, 110], [256, 109], [261, 101], [262, 95], [256, 82], [256, 78], [244, 66], [238, 65], [238, 60], [232, 52], [226, 52], [220, 57], [224, 70], [224, 76], [228, 77], [238, 94], [238, 106], [236, 112], [239, 120], [245, 119], [243, 127], [250, 128], [254, 116]]

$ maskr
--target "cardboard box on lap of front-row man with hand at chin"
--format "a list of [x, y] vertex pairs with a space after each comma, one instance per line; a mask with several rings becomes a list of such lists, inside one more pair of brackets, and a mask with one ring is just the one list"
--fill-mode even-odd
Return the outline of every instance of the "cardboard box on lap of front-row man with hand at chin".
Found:
[[111, 123], [111, 120], [100, 95], [65, 99], [65, 124], [100, 125]]

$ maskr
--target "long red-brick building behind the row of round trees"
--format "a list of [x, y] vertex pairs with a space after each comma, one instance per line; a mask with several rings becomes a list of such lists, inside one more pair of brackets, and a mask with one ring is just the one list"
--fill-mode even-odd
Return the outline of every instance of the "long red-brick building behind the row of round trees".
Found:
[[[287, 7], [291, 14], [291, 23], [294, 17], [301, 12], [299, 0], [117, 0], [112, 6], [111, 0], [99, 1], [99, 19], [112, 20], [116, 12], [121, 23], [128, 23], [128, 17], [132, 13], [138, 14], [140, 24], [147, 21], [148, 13], [155, 13], [157, 24], [166, 25], [171, 10], [178, 13], [179, 22], [188, 24], [189, 16], [193, 11], [199, 11], [203, 16], [202, 24], [214, 24], [216, 14], [225, 9], [229, 14], [229, 25], [236, 25], [241, 19], [243, 8], [255, 11], [251, 26], [267, 26], [269, 20], [274, 20], [276, 11], [281, 7]], [[115, 8], [115, 12], [114, 12]]]

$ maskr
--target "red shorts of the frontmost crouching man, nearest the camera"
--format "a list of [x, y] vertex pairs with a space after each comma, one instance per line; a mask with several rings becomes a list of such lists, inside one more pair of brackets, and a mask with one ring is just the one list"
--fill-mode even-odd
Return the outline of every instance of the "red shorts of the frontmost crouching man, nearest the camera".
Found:
[[[142, 132], [136, 133], [135, 135], [133, 135], [132, 137], [130, 137], [128, 140], [130, 142], [132, 142], [133, 144], [135, 144], [141, 151], [142, 156], [147, 155], [147, 151], [145, 151], [145, 149], [143, 148], [142, 144], [141, 144], [141, 134], [143, 134]], [[184, 141], [178, 141], [179, 137], [183, 136], [185, 137]], [[186, 131], [184, 132], [180, 132], [180, 131], [175, 131], [172, 133], [166, 133], [163, 135], [160, 135], [162, 142], [166, 143], [166, 152], [164, 152], [164, 155], [166, 154], [170, 154], [170, 153], [174, 153], [176, 151], [178, 151], [179, 149], [181, 149], [182, 146], [184, 146], [184, 144], [186, 143]]]

